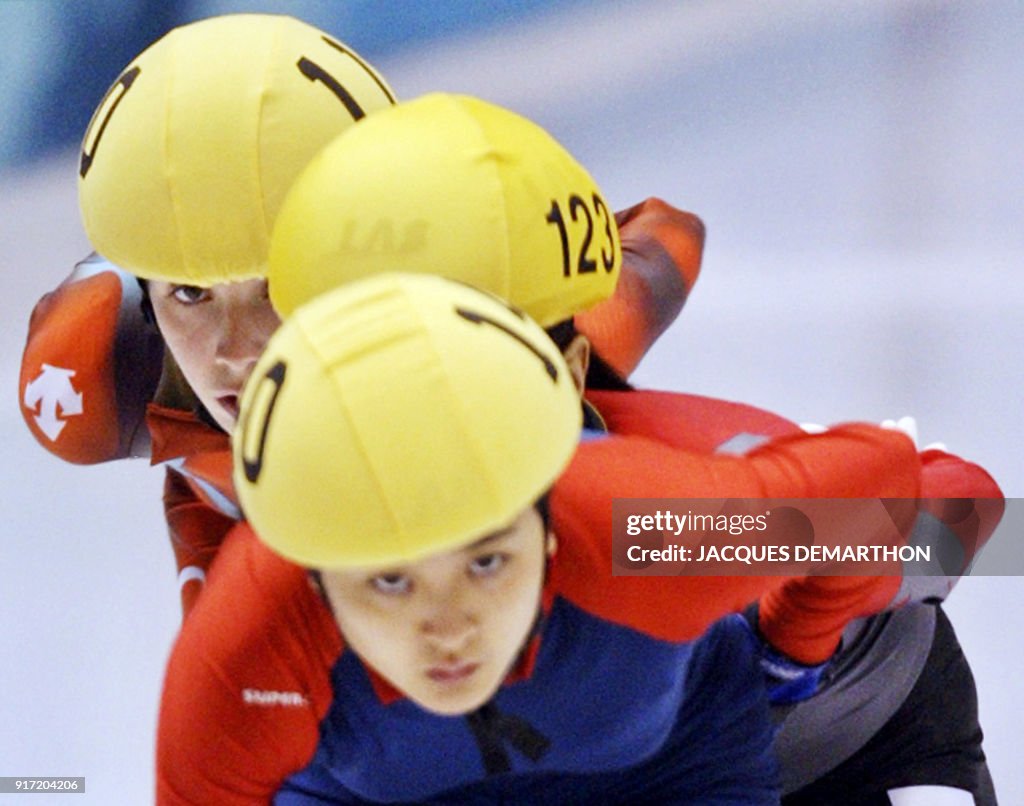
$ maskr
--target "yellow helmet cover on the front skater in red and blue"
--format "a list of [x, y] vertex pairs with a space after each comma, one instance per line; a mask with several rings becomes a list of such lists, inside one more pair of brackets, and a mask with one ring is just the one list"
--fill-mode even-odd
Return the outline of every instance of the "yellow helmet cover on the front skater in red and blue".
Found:
[[270, 339], [242, 397], [234, 484], [295, 562], [407, 562], [507, 526], [568, 463], [581, 421], [534, 322], [461, 283], [384, 273]]

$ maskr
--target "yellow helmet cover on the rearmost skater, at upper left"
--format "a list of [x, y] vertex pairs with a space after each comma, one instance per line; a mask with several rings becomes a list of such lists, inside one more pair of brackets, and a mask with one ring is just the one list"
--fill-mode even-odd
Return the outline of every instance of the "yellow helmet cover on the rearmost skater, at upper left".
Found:
[[393, 102], [356, 53], [298, 19], [227, 14], [174, 29], [125, 69], [86, 129], [86, 235], [151, 280], [263, 277], [296, 175], [343, 129]]

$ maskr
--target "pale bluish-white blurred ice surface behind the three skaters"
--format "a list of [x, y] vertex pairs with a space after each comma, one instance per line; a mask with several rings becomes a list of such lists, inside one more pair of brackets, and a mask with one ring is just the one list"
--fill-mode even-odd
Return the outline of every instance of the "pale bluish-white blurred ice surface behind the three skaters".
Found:
[[[1024, 18], [845, 5], [601, 5], [377, 61], [402, 97], [538, 120], [616, 208], [654, 195], [703, 217], [700, 280], [641, 385], [799, 421], [910, 414], [1020, 498]], [[0, 775], [84, 775], [72, 802], [141, 804], [178, 623], [162, 474], [62, 464], [14, 400], [32, 305], [88, 251], [76, 158], [0, 176]], [[1024, 803], [1022, 594], [969, 578], [948, 602], [1006, 804]]]

